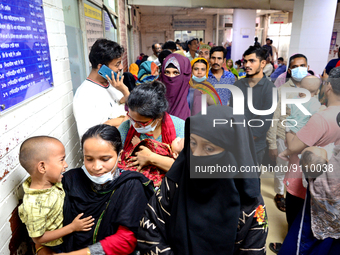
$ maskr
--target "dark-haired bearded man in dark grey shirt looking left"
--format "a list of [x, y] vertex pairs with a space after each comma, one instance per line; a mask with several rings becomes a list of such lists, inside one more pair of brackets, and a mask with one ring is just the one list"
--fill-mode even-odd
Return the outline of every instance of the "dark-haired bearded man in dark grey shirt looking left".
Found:
[[[251, 121], [253, 138], [258, 164], [261, 165], [266, 144], [266, 133], [271, 125], [273, 113], [268, 115], [257, 115], [252, 113], [248, 107], [248, 88], [252, 88], [252, 105], [256, 110], [269, 110], [273, 105], [273, 88], [274, 84], [263, 74], [263, 68], [266, 65], [267, 51], [264, 48], [250, 46], [243, 54], [244, 71], [246, 78], [235, 82], [235, 86], [242, 90], [244, 95], [244, 115]], [[233, 107], [233, 98], [230, 99], [230, 106]]]

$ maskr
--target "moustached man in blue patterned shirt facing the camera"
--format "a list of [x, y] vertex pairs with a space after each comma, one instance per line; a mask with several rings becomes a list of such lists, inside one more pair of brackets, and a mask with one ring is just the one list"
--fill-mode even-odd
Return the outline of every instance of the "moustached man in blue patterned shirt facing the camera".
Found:
[[[210, 66], [207, 81], [215, 87], [216, 84], [234, 84], [235, 76], [228, 70], [223, 69], [226, 61], [226, 49], [223, 46], [215, 46], [210, 50]], [[223, 105], [228, 105], [230, 90], [226, 88], [216, 88]]]

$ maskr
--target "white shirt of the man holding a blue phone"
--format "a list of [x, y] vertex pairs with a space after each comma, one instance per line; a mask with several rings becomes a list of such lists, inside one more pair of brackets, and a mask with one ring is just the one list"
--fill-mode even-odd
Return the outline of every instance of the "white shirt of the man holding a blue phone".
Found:
[[95, 125], [125, 116], [125, 104], [119, 104], [123, 93], [111, 85], [104, 87], [86, 79], [77, 89], [73, 98], [73, 114], [76, 119], [79, 137]]

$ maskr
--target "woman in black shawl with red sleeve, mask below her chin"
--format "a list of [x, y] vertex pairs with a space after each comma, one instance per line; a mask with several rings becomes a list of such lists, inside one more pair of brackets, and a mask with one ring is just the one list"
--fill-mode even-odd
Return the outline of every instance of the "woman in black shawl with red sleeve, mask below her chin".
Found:
[[[122, 142], [117, 128], [97, 125], [81, 140], [84, 165], [64, 174], [64, 224], [75, 215], [92, 215], [95, 225], [88, 232], [63, 238], [71, 254], [131, 254], [140, 217], [153, 194], [152, 184], [140, 173], [122, 171], [117, 162]], [[44, 254], [47, 254], [47, 249]]]

